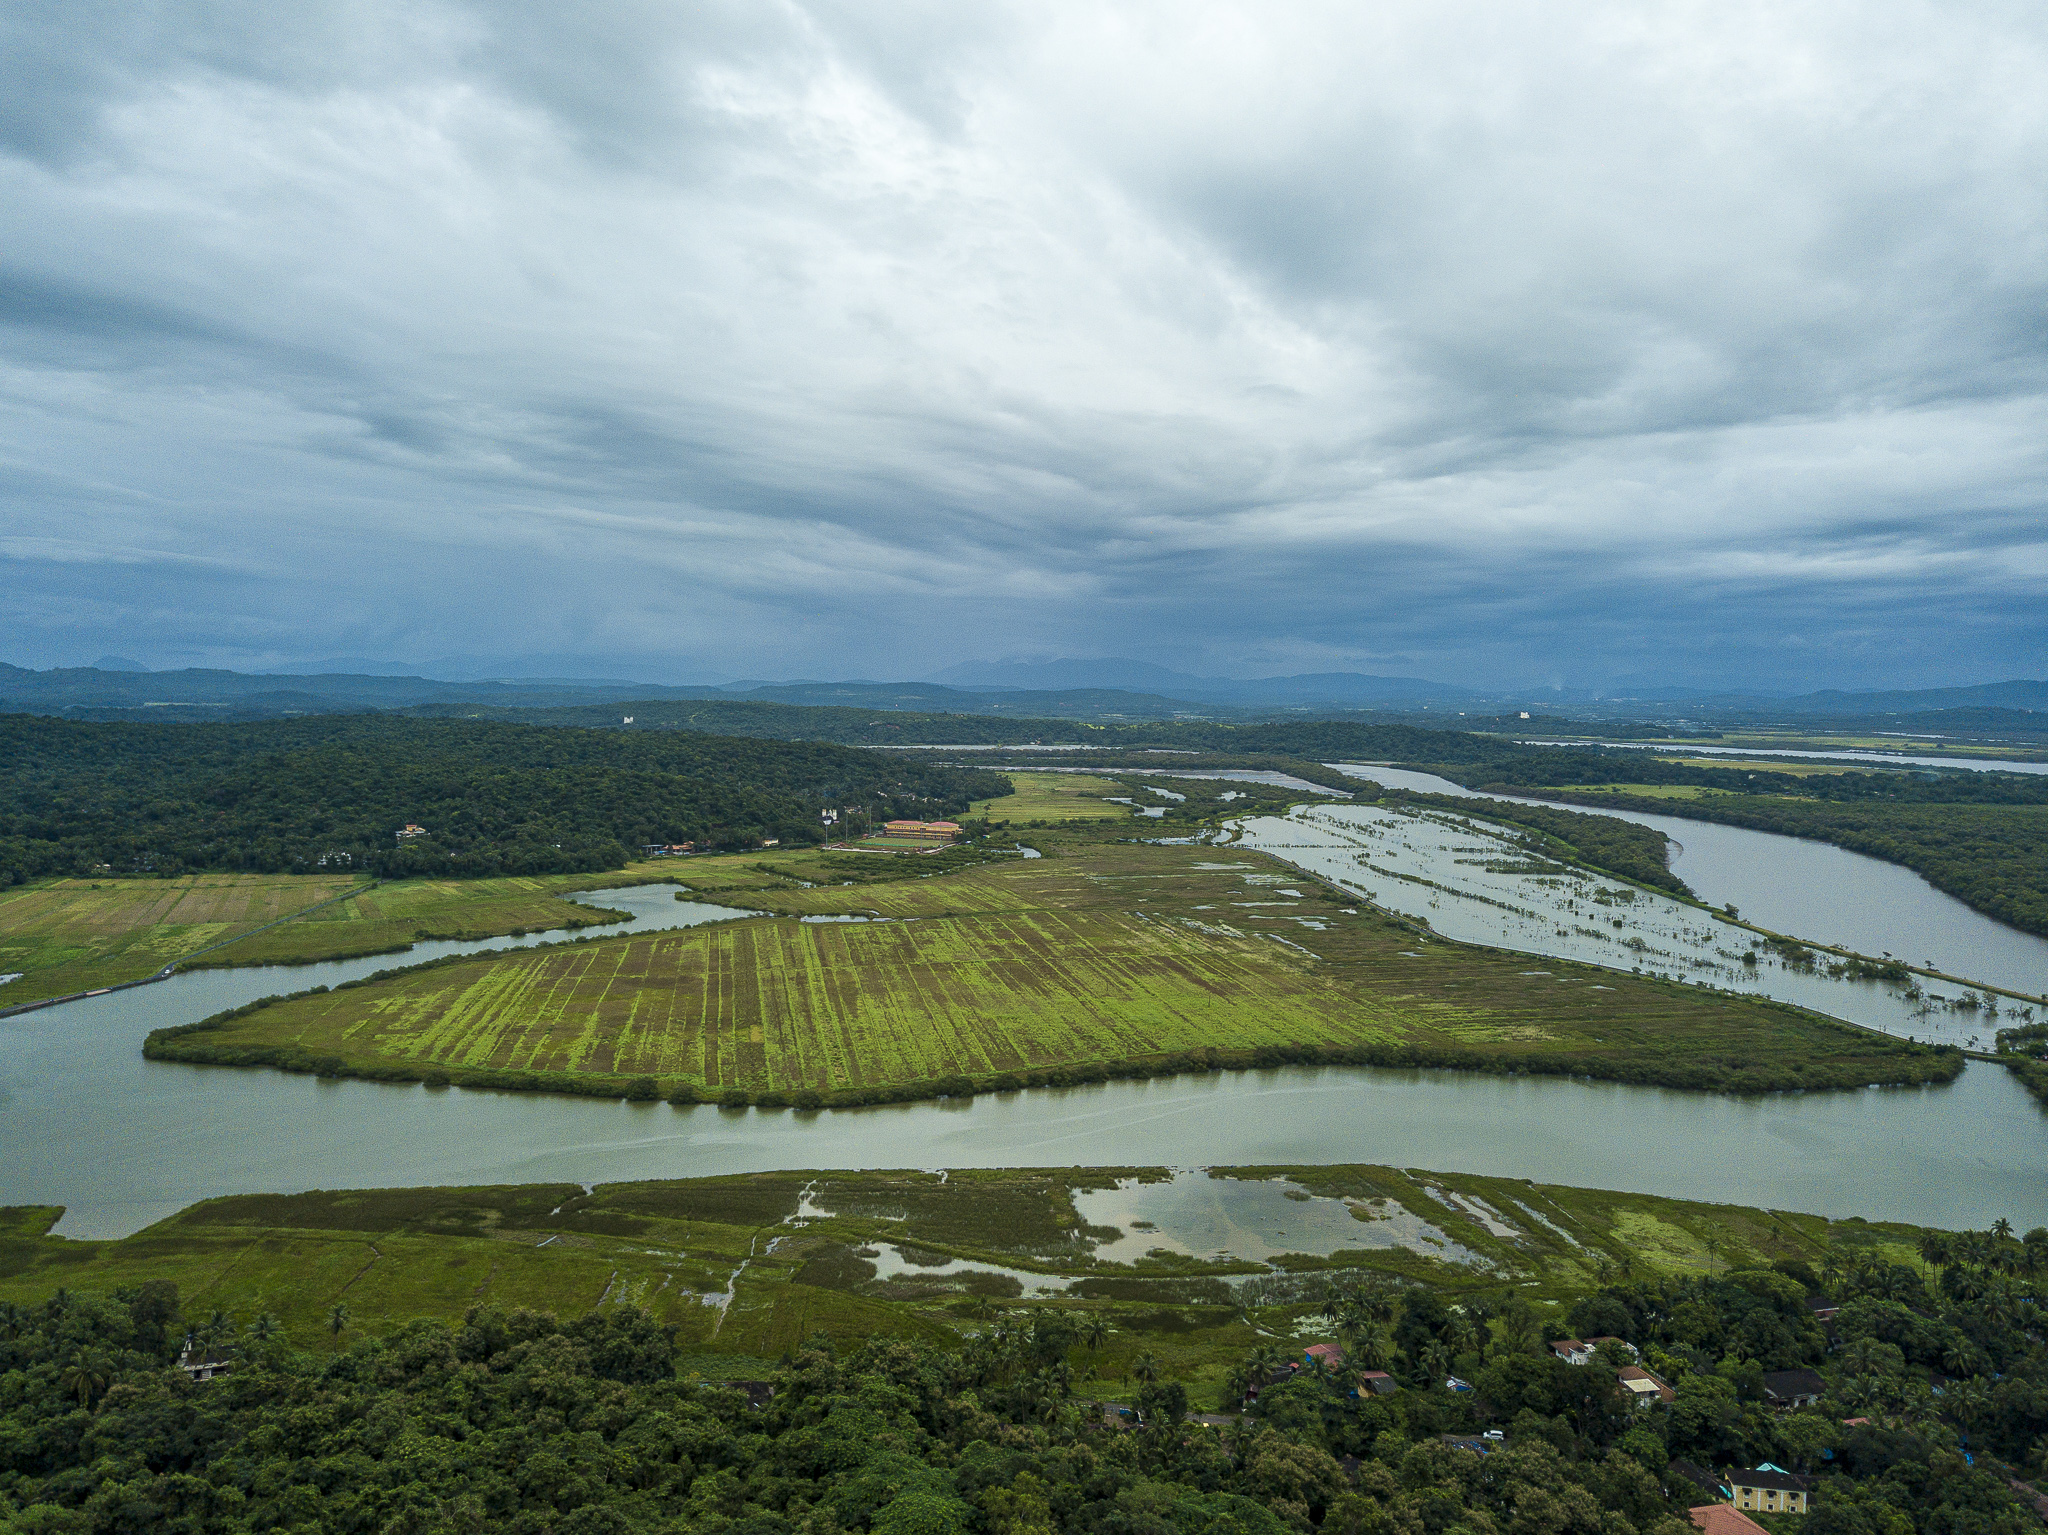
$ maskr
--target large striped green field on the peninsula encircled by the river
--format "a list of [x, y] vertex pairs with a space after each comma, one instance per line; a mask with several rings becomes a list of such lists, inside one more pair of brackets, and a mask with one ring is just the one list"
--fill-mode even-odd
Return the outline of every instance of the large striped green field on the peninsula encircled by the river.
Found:
[[1532, 970], [1524, 954], [1348, 909], [1260, 853], [1100, 831], [1036, 841], [1040, 860], [854, 886], [705, 860], [698, 878], [725, 884], [692, 880], [696, 894], [784, 919], [387, 972], [162, 1029], [147, 1054], [797, 1107], [1286, 1062], [1714, 1091], [1946, 1081], [1960, 1066], [1778, 1003], [1556, 960]]

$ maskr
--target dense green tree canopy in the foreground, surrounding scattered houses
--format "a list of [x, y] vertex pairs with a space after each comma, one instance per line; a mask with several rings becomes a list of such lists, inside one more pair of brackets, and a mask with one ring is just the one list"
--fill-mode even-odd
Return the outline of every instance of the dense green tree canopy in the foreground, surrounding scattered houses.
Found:
[[[678, 1367], [629, 1306], [475, 1308], [313, 1357], [266, 1314], [180, 1318], [164, 1281], [57, 1291], [0, 1312], [0, 1529], [1681, 1535], [1710, 1500], [1696, 1467], [1761, 1461], [1817, 1478], [1808, 1535], [2040, 1529], [2011, 1472], [2048, 1453], [2048, 1232], [1933, 1232], [1919, 1257], [1937, 1283], [1864, 1251], [1626, 1281], [1548, 1318], [1362, 1279], [1329, 1291], [1333, 1367], [1276, 1339], [1210, 1404], [1147, 1355], [1128, 1414], [1077, 1390], [1100, 1336], [1059, 1308], [989, 1306], [958, 1347], [819, 1334], [748, 1390], [705, 1379], [715, 1357]], [[188, 1328], [231, 1373], [172, 1367]], [[1634, 1410], [1626, 1353], [1573, 1367], [1544, 1349], [1565, 1334], [1626, 1339], [1673, 1400]], [[1765, 1371], [1796, 1367], [1821, 1404], [1769, 1410]], [[1188, 1420], [1251, 1386], [1241, 1418]]]

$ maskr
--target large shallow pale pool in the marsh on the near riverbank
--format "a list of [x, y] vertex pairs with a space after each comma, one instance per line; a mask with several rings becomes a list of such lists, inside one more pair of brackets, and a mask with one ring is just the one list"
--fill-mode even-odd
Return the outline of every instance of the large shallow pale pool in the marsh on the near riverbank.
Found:
[[1266, 1263], [1284, 1253], [1405, 1246], [1448, 1263], [1483, 1263], [1470, 1248], [1391, 1199], [1333, 1199], [1288, 1179], [1237, 1179], [1190, 1171], [1165, 1181], [1120, 1179], [1112, 1189], [1075, 1189], [1073, 1208], [1090, 1226], [1118, 1226], [1100, 1242], [1106, 1263], [1153, 1253]]

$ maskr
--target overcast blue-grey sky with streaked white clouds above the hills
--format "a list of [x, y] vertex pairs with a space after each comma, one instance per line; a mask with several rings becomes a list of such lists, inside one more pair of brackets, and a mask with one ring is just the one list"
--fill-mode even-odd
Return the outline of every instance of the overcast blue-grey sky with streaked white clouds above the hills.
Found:
[[2044, 78], [2038, 0], [16, 0], [0, 659], [2038, 677]]

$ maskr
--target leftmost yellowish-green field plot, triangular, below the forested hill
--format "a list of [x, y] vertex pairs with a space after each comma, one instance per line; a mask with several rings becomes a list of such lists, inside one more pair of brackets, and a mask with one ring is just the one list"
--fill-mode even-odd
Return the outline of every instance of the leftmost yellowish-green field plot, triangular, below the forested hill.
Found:
[[141, 980], [356, 882], [295, 874], [39, 880], [0, 890], [0, 1007]]

